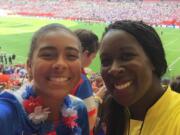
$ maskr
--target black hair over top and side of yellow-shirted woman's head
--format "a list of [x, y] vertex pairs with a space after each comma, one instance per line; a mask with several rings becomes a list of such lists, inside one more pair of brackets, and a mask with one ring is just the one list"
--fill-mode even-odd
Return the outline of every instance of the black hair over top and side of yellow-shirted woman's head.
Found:
[[103, 36], [112, 29], [124, 30], [133, 35], [154, 65], [157, 77], [162, 77], [167, 70], [167, 61], [161, 39], [153, 27], [142, 21], [116, 21], [105, 29]]

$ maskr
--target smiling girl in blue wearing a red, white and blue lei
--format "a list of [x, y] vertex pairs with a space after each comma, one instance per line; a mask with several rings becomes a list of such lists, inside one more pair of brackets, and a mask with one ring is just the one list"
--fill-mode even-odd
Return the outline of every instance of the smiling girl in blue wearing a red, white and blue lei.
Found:
[[32, 84], [0, 94], [1, 135], [89, 135], [86, 106], [69, 95], [81, 75], [80, 48], [63, 25], [35, 33], [27, 61]]

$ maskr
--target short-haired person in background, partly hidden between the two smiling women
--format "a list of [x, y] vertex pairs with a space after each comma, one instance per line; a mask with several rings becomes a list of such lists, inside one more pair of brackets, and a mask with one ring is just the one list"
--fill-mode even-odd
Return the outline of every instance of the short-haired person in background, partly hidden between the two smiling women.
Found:
[[72, 94], [84, 100], [88, 109], [90, 134], [93, 135], [93, 128], [96, 122], [97, 104], [94, 99], [91, 83], [86, 76], [84, 68], [87, 68], [96, 57], [99, 49], [99, 42], [97, 35], [92, 31], [78, 29], [75, 31], [75, 34], [79, 38], [82, 47], [82, 75], [81, 82], [78, 84], [77, 89], [72, 91]]

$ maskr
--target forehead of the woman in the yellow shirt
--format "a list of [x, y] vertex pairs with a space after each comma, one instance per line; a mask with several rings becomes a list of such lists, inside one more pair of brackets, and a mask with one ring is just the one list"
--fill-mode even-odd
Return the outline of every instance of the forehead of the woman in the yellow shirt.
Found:
[[126, 48], [129, 50], [143, 50], [140, 43], [130, 33], [123, 30], [110, 30], [102, 39], [100, 53], [114, 53]]

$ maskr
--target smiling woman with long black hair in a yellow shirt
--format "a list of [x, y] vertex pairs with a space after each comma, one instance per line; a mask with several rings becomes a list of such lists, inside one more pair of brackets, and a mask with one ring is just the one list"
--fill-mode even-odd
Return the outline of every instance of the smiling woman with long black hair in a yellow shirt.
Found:
[[116, 21], [106, 28], [101, 74], [106, 100], [106, 135], [179, 135], [180, 95], [163, 88], [167, 61], [157, 32], [142, 21]]

